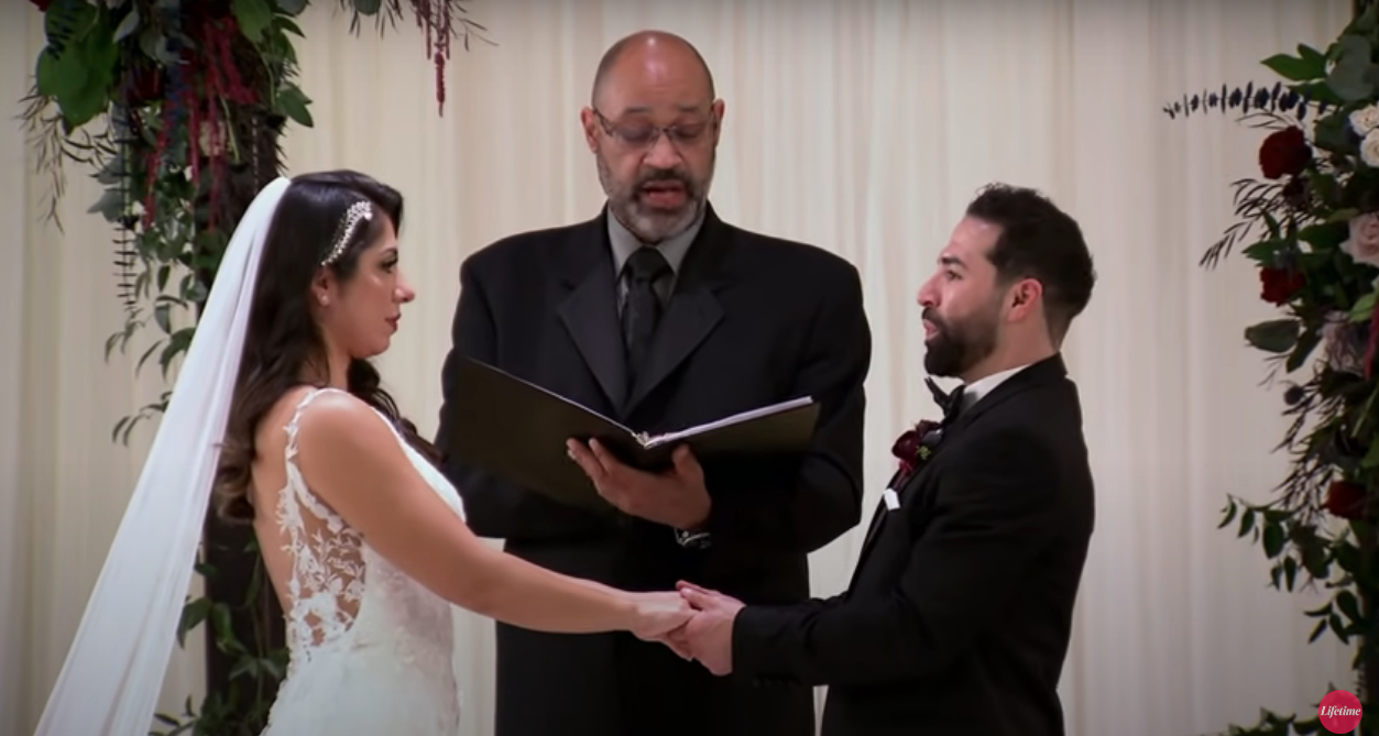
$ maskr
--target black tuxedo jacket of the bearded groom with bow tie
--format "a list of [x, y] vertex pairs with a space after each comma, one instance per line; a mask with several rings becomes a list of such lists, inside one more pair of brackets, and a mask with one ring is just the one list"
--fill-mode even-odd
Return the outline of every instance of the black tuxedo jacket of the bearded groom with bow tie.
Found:
[[847, 593], [738, 615], [734, 675], [829, 685], [823, 736], [1062, 736], [1094, 493], [1060, 357], [958, 415], [898, 493]]

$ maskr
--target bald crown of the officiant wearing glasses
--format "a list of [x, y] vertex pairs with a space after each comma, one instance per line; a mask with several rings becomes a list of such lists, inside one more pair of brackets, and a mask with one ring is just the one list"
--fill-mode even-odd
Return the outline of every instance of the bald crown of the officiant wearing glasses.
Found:
[[658, 81], [696, 88], [696, 96], [714, 99], [713, 73], [694, 44], [674, 33], [638, 30], [604, 52], [594, 73], [590, 105], [600, 108], [608, 87]]

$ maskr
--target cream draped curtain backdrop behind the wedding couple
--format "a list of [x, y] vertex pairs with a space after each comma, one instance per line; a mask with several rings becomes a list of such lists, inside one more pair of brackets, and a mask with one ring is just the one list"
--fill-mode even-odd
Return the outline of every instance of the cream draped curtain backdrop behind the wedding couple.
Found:
[[[1197, 259], [1231, 221], [1227, 183], [1259, 135], [1229, 117], [1169, 121], [1185, 91], [1271, 79], [1258, 59], [1328, 43], [1349, 1], [1287, 0], [477, 0], [498, 45], [434, 72], [411, 25], [349, 34], [335, 3], [301, 25], [314, 130], [291, 172], [353, 167], [407, 196], [404, 269], [421, 295], [381, 361], [433, 431], [462, 258], [519, 230], [593, 215], [603, 196], [578, 110], [625, 33], [684, 34], [712, 65], [727, 121], [713, 201], [741, 226], [819, 244], [862, 270], [876, 335], [866, 509], [891, 440], [932, 415], [914, 292], [974, 190], [1038, 186], [1081, 219], [1100, 283], [1067, 358], [1087, 411], [1098, 524], [1062, 692], [1069, 733], [1190, 736], [1309, 710], [1347, 655], [1307, 645], [1314, 601], [1266, 587], [1258, 547], [1218, 531], [1226, 493], [1263, 499], [1284, 420], [1245, 325], [1271, 310], [1252, 270]], [[112, 442], [156, 398], [157, 371], [103, 361], [120, 325], [98, 190], [69, 172], [65, 232], [41, 222], [18, 99], [41, 48], [28, 3], [0, 10], [0, 733], [28, 733], [62, 664], [153, 427]], [[1230, 50], [1227, 52], [1227, 48]], [[138, 356], [138, 350], [131, 350]], [[865, 524], [863, 524], [865, 528]], [[862, 528], [814, 558], [815, 593], [847, 583]], [[974, 580], [972, 584], [982, 584]], [[492, 624], [465, 615], [465, 733], [492, 724]], [[200, 697], [199, 642], [165, 704]]]

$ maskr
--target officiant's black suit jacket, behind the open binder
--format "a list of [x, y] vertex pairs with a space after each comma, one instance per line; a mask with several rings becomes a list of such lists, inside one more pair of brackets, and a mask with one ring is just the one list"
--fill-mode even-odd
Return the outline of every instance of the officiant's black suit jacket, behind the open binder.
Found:
[[[822, 402], [797, 463], [707, 467], [707, 549], [674, 531], [598, 515], [516, 488], [472, 464], [445, 471], [474, 532], [549, 569], [627, 590], [681, 579], [745, 601], [809, 597], [807, 554], [862, 517], [863, 389], [872, 338], [858, 272], [821, 248], [754, 234], [712, 211], [685, 254], [644, 380], [623, 398], [607, 211], [501, 240], [461, 267], [454, 347], [621, 420], [669, 431], [800, 396]], [[441, 408], [437, 444], [448, 440]], [[463, 575], [463, 571], [456, 571]], [[496, 736], [812, 736], [808, 686], [712, 677], [630, 634], [560, 635], [498, 626]]]

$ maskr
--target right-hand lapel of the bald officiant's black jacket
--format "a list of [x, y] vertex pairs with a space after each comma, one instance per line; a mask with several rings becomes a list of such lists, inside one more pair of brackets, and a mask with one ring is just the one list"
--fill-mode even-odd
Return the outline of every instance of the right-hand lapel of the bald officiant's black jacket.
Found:
[[652, 338], [647, 369], [632, 387], [625, 413], [634, 412], [723, 320], [723, 306], [714, 292], [727, 283], [723, 260], [729, 251], [729, 237], [731, 232], [710, 207], [705, 212], [699, 234], [685, 252], [680, 274], [676, 277], [676, 291]]

